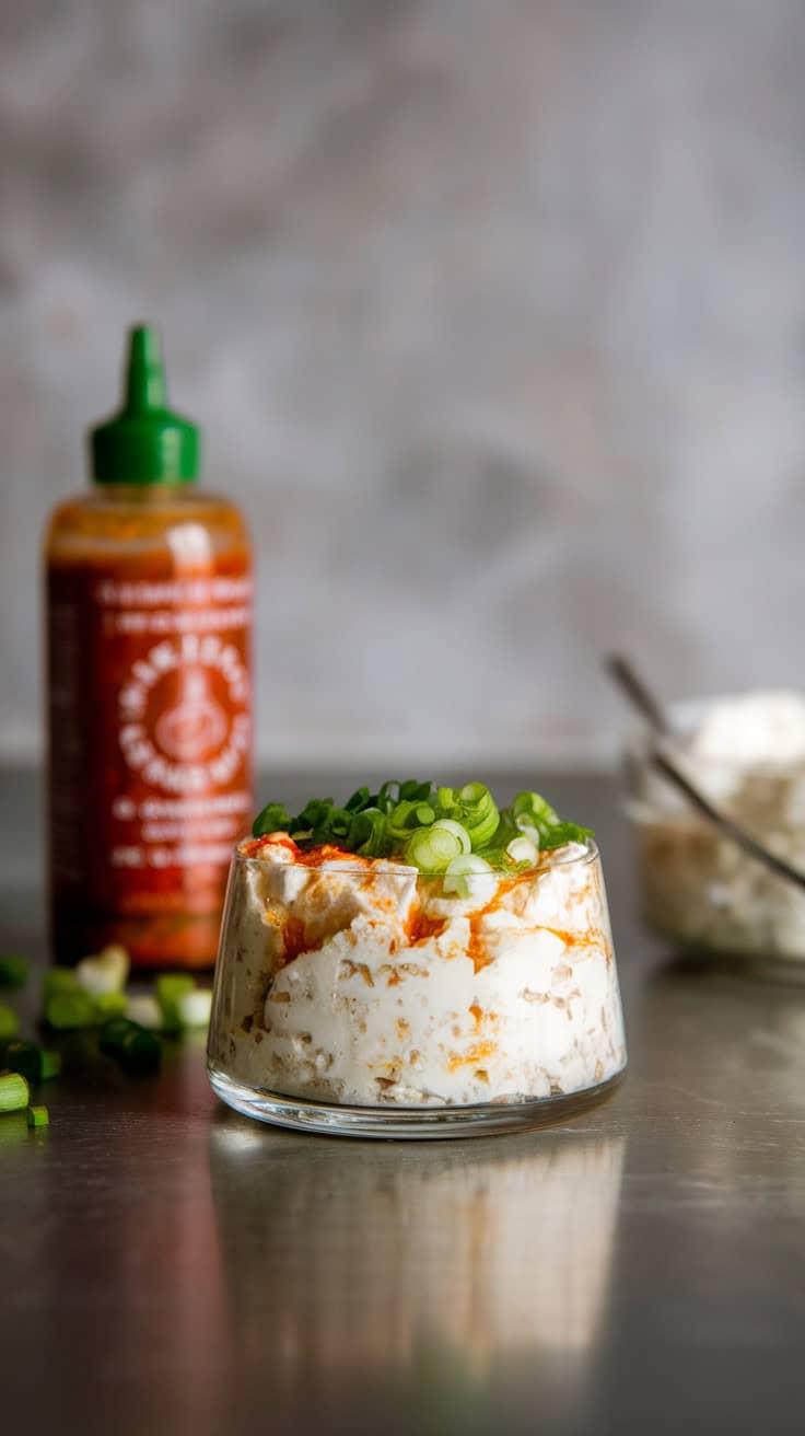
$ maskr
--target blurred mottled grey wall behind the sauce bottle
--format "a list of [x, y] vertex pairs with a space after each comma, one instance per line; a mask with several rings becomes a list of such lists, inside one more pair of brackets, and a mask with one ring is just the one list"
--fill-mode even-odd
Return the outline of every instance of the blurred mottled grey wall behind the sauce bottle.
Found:
[[6, 0], [0, 757], [122, 333], [260, 559], [277, 764], [601, 761], [802, 684], [801, 0]]

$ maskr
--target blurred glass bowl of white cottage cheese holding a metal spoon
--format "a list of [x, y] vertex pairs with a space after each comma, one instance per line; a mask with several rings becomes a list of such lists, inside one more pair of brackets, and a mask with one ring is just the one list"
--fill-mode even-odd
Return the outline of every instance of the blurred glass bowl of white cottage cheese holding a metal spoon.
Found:
[[[805, 695], [749, 692], [669, 711], [677, 767], [725, 814], [805, 872]], [[805, 890], [693, 811], [626, 750], [627, 813], [649, 923], [683, 946], [750, 959], [769, 974], [805, 959]]]

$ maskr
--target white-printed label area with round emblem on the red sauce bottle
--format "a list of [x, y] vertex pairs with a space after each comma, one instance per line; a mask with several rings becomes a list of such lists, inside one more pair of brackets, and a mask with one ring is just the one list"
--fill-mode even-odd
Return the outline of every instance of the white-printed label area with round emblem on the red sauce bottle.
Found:
[[56, 895], [119, 913], [220, 908], [251, 813], [248, 573], [49, 573]]

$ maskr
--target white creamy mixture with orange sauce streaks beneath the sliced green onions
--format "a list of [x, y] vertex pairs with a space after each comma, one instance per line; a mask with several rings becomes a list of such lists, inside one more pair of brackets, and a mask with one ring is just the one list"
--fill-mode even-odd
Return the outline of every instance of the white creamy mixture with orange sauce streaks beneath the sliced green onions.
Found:
[[237, 1081], [439, 1106], [574, 1093], [626, 1063], [595, 856], [458, 899], [416, 869], [307, 869], [270, 844], [234, 883], [210, 1051]]

